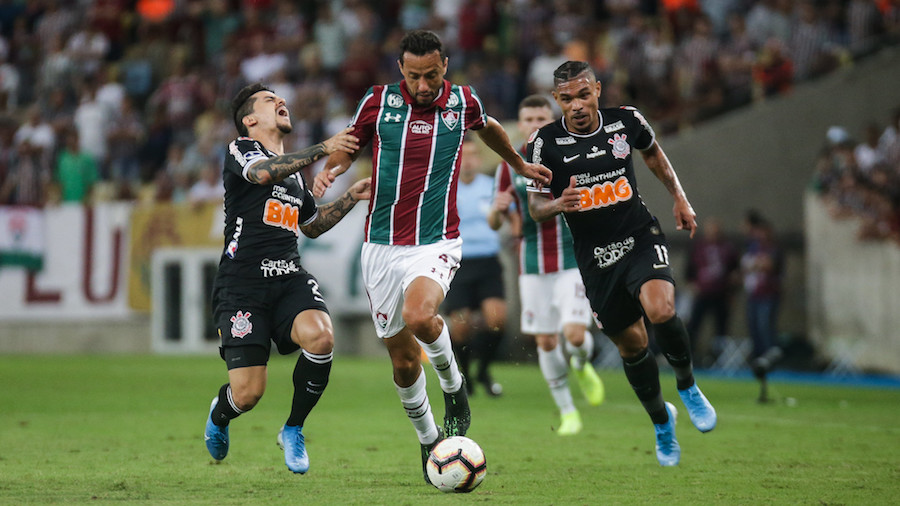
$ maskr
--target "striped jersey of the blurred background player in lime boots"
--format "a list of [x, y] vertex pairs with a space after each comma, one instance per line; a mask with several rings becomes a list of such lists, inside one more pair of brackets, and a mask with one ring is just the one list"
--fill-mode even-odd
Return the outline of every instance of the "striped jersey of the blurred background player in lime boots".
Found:
[[519, 273], [549, 274], [565, 269], [575, 269], [575, 249], [572, 232], [562, 215], [542, 223], [534, 221], [528, 212], [528, 179], [512, 170], [506, 162], [500, 162], [494, 175], [496, 192], [504, 192], [512, 186], [516, 210], [522, 217], [522, 241], [519, 243]]

